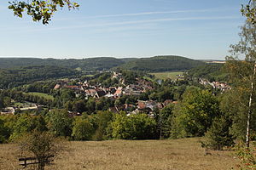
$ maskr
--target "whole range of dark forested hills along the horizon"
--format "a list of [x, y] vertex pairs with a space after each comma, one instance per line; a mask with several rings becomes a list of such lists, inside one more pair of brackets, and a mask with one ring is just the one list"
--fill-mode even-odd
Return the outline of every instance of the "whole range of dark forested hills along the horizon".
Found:
[[83, 71], [106, 71], [113, 67], [137, 71], [184, 71], [203, 65], [204, 62], [180, 56], [155, 56], [152, 58], [98, 57], [87, 59], [38, 59], [38, 58], [0, 58], [0, 69], [19, 68], [20, 66], [60, 66]]

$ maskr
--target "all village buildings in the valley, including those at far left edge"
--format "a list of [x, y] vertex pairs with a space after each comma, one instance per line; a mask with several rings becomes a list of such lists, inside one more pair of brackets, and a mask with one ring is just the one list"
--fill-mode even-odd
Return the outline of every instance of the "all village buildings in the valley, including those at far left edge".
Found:
[[[117, 100], [123, 96], [134, 96], [139, 97], [141, 94], [154, 89], [153, 82], [149, 82], [141, 77], [136, 77], [133, 83], [125, 83], [125, 78], [123, 75], [116, 71], [107, 71], [111, 74], [111, 79], [118, 80], [115, 86], [106, 87], [102, 83], [91, 83], [90, 80], [85, 80], [84, 82], [79, 79], [61, 79], [55, 84], [53, 88], [54, 91], [61, 89], [68, 89], [73, 91], [76, 98], [83, 96], [84, 99], [93, 98], [96, 101], [102, 98], [110, 99], [113, 101], [114, 106], [109, 107], [108, 111], [113, 111], [115, 113], [119, 111], [126, 111], [127, 115], [137, 114], [140, 112], [152, 114], [155, 110], [161, 110], [166, 105], [177, 104], [177, 101], [172, 99], [166, 99], [163, 102], [158, 102], [157, 100], [148, 99], [142, 100], [137, 99], [137, 102], [131, 104], [125, 102], [124, 105], [119, 104]], [[102, 73], [104, 74], [104, 73]], [[74, 83], [75, 82], [75, 83]], [[15, 103], [15, 101], [12, 101]], [[15, 115], [15, 113], [20, 113], [24, 111], [41, 111], [42, 108], [47, 108], [45, 105], [40, 105], [37, 103], [32, 103], [24, 101], [23, 104], [14, 105], [4, 108], [1, 111], [1, 115]], [[81, 116], [82, 113], [78, 111], [68, 111], [70, 116]]]

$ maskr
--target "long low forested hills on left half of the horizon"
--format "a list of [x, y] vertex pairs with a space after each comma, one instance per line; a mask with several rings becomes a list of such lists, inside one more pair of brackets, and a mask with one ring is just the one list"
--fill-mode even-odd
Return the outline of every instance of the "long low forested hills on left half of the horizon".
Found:
[[125, 60], [112, 57], [88, 59], [0, 58], [0, 68], [2, 69], [28, 65], [55, 65], [71, 69], [80, 68], [86, 71], [102, 71], [122, 64], [125, 64]]

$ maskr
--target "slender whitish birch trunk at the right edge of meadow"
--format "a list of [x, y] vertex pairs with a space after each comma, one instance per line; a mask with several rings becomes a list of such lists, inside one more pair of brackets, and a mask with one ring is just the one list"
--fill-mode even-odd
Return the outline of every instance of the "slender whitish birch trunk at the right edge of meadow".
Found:
[[254, 69], [253, 69], [253, 77], [251, 82], [251, 93], [249, 98], [249, 104], [248, 104], [248, 114], [247, 114], [247, 135], [246, 135], [246, 144], [247, 149], [250, 147], [250, 122], [251, 122], [251, 114], [252, 114], [252, 101], [253, 101], [253, 86], [254, 86], [254, 78], [256, 74], [256, 61], [254, 62]]

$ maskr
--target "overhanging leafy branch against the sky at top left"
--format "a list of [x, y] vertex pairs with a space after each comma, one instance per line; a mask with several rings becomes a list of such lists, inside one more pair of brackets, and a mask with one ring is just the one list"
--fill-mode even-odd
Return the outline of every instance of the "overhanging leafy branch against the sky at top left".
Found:
[[44, 25], [49, 24], [52, 15], [58, 10], [67, 6], [68, 9], [79, 8], [78, 3], [71, 3], [70, 0], [32, 0], [32, 1], [13, 1], [9, 2], [9, 9], [14, 11], [14, 14], [22, 18], [26, 11], [27, 15], [32, 16], [33, 21], [42, 21]]

